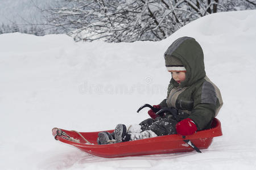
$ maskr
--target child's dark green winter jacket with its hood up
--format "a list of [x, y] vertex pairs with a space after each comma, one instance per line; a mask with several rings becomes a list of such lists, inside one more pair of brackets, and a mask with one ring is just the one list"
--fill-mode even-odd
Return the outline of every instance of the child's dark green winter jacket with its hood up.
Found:
[[179, 113], [188, 113], [198, 130], [207, 128], [223, 104], [220, 90], [205, 74], [204, 54], [199, 43], [191, 37], [177, 39], [164, 53], [166, 66], [170, 57], [176, 57], [185, 66], [186, 79], [180, 84], [170, 80], [167, 98], [160, 106], [174, 107]]

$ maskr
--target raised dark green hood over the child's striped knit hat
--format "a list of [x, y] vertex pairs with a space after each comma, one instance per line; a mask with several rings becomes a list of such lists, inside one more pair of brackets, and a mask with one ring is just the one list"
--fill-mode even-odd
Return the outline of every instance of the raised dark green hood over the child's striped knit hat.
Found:
[[[166, 66], [172, 65], [172, 57], [179, 59], [187, 70], [186, 79], [180, 83], [181, 87], [191, 86], [205, 77], [203, 49], [192, 37], [180, 37], [169, 46], [164, 53]], [[171, 79], [171, 83], [175, 87], [179, 86], [174, 79]]]

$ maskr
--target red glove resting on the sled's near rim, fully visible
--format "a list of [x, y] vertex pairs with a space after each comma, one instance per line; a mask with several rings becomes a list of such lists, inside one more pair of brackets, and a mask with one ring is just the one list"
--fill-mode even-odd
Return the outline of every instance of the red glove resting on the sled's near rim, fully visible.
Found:
[[177, 134], [191, 135], [195, 133], [197, 130], [195, 122], [193, 122], [190, 118], [186, 118], [176, 124]]

